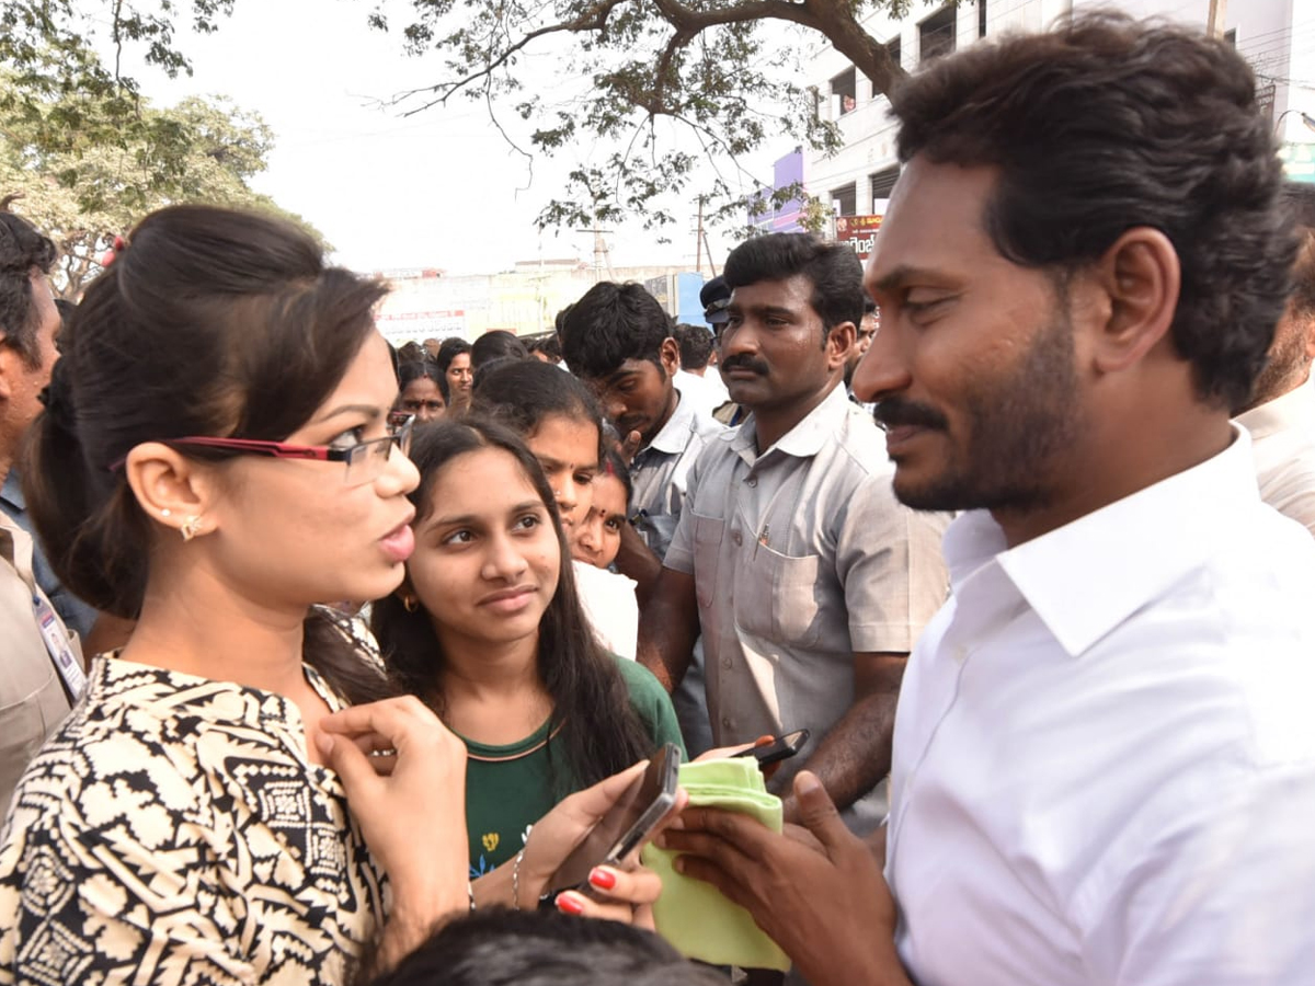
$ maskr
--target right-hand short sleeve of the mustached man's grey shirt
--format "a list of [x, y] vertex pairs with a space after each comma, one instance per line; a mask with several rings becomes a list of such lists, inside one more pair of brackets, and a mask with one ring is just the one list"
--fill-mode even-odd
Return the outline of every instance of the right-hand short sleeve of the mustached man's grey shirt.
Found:
[[907, 653], [944, 603], [949, 576], [940, 539], [948, 514], [910, 510], [889, 475], [869, 476], [846, 507], [836, 539], [855, 652]]

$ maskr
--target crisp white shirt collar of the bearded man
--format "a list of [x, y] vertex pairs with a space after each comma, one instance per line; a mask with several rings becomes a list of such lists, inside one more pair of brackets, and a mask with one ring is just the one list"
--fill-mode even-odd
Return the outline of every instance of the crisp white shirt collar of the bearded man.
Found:
[[1006, 548], [984, 510], [945, 532], [951, 585], [995, 563], [1073, 657], [1161, 596], [1214, 551], [1219, 518], [1260, 504], [1251, 438], [1040, 538]]

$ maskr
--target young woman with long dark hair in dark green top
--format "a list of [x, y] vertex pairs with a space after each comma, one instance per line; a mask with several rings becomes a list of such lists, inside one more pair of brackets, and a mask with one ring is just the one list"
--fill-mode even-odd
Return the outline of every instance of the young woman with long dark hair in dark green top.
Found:
[[397, 682], [467, 745], [472, 877], [512, 860], [562, 798], [680, 744], [671, 699], [598, 644], [552, 489], [477, 417], [417, 429], [416, 552], [371, 623]]

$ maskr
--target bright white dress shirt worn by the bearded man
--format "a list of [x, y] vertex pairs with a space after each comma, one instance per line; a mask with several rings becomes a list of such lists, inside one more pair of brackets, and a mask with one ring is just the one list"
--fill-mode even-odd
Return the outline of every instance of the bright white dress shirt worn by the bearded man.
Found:
[[1315, 542], [1245, 433], [1013, 550], [967, 514], [945, 560], [890, 785], [919, 986], [1315, 982]]

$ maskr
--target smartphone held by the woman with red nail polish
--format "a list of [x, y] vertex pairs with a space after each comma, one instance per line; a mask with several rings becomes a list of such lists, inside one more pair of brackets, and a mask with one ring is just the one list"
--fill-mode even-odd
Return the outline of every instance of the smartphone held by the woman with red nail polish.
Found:
[[551, 907], [563, 890], [589, 893], [589, 872], [598, 865], [615, 866], [644, 841], [676, 805], [680, 747], [668, 743], [648, 761], [635, 780], [589, 833], [548, 877], [548, 891], [539, 904]]

